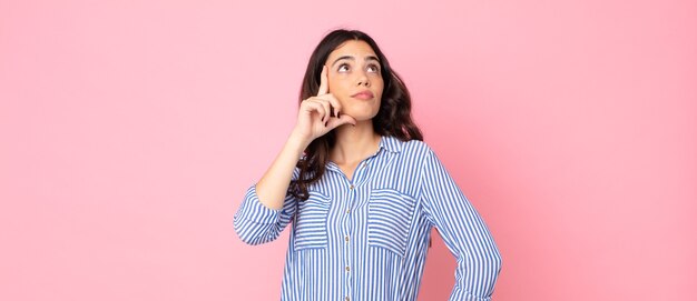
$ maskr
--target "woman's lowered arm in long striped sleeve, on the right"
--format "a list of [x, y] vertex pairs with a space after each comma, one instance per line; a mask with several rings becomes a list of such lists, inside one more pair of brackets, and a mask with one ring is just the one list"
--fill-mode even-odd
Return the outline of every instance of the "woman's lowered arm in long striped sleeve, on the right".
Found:
[[431, 149], [421, 180], [424, 212], [458, 262], [450, 300], [491, 300], [501, 254], [487, 224]]

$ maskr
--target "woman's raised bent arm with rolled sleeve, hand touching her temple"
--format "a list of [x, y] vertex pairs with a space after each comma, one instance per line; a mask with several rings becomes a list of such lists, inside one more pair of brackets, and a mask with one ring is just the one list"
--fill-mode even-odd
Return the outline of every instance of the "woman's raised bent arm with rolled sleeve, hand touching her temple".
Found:
[[[324, 67], [317, 96], [301, 103], [297, 123], [288, 140], [262, 179], [247, 190], [235, 214], [235, 231], [246, 243], [272, 241], [291, 221], [297, 200], [288, 194], [288, 187], [297, 178], [295, 165], [310, 142], [342, 124], [355, 124], [352, 117], [340, 113], [338, 100], [328, 93], [326, 74]], [[332, 116], [332, 108], [336, 117]]]

